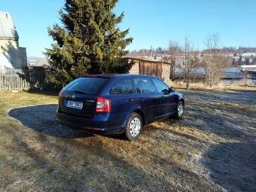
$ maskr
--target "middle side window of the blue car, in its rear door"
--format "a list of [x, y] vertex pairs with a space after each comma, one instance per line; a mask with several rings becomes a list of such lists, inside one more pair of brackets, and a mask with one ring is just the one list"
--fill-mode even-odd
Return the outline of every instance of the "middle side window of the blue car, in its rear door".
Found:
[[135, 79], [137, 93], [154, 93], [154, 84], [148, 78]]

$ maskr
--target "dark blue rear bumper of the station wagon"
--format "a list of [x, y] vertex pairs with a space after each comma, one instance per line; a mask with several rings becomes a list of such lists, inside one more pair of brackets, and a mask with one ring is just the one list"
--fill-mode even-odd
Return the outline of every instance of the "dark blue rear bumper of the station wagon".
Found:
[[56, 119], [69, 126], [75, 126], [99, 135], [123, 133], [129, 114], [95, 114], [92, 119], [56, 111]]

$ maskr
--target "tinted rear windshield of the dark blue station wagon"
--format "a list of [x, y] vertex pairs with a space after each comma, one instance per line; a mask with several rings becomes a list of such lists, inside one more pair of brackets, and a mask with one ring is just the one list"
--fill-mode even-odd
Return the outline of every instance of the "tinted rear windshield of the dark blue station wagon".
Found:
[[77, 78], [64, 87], [64, 90], [94, 95], [108, 80], [109, 78]]

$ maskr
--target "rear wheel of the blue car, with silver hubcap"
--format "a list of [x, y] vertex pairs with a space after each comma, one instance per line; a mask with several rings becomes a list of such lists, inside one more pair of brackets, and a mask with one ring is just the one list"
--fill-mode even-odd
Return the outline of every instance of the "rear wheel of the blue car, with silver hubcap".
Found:
[[142, 131], [142, 117], [137, 113], [132, 113], [126, 122], [124, 136], [126, 139], [133, 141], [139, 137]]

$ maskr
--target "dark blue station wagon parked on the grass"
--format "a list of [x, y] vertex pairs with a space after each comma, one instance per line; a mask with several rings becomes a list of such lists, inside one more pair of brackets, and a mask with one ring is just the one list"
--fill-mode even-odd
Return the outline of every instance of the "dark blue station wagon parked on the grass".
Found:
[[184, 98], [159, 78], [147, 75], [85, 75], [59, 93], [57, 120], [98, 134], [137, 139], [142, 126], [181, 118]]

